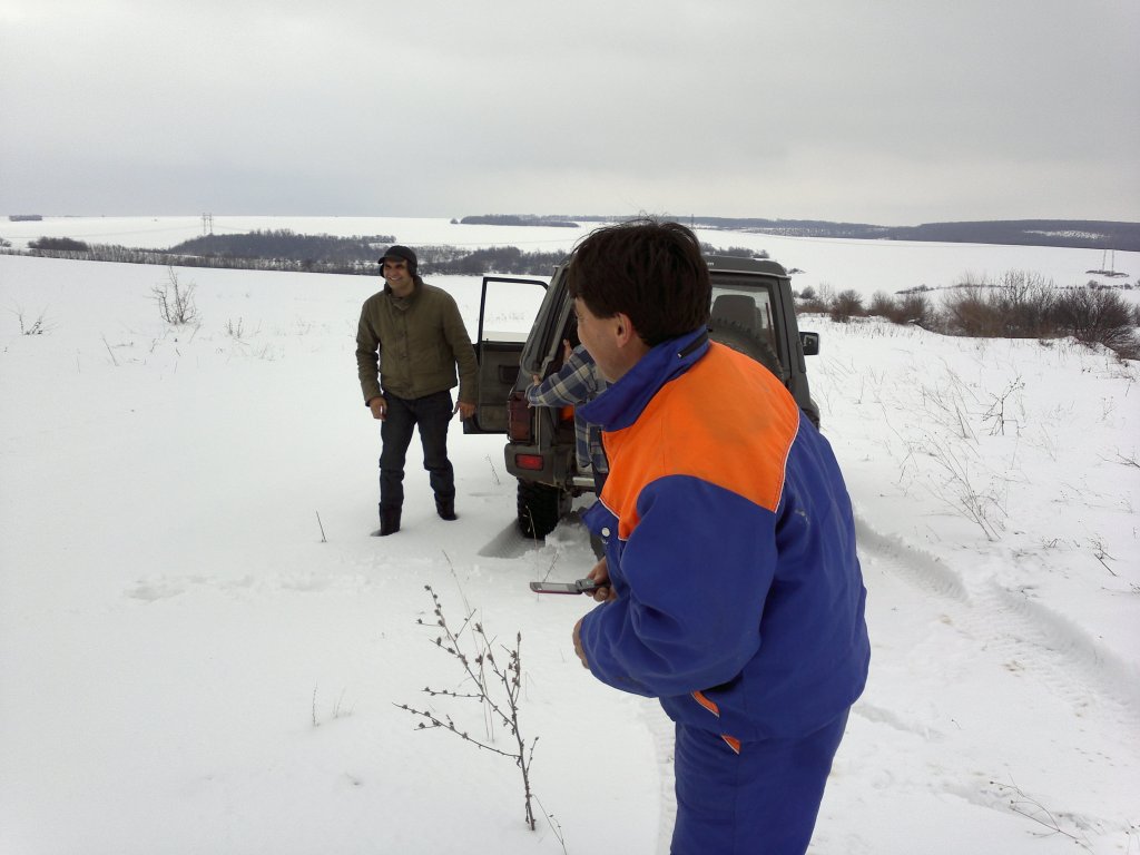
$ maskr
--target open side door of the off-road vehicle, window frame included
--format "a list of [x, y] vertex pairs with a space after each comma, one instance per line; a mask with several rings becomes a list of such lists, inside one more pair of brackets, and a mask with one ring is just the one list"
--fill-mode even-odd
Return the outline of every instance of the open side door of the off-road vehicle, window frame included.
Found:
[[479, 300], [479, 396], [464, 433], [506, 433], [506, 401], [519, 378], [519, 359], [538, 315], [547, 283], [510, 276], [484, 276]]

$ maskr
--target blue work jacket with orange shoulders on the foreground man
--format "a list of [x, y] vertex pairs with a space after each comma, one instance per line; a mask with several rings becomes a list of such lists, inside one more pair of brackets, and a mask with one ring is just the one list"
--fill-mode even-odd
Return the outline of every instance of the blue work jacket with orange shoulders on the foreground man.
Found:
[[594, 675], [738, 750], [846, 710], [870, 661], [850, 499], [780, 381], [702, 329], [581, 412], [610, 458], [586, 524], [617, 594], [583, 620]]

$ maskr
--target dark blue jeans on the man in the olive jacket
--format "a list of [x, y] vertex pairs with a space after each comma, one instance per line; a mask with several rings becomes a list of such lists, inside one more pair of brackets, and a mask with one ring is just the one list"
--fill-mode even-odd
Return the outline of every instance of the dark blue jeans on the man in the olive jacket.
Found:
[[437, 499], [455, 498], [455, 471], [447, 458], [447, 429], [454, 415], [450, 392], [435, 392], [423, 398], [398, 398], [384, 392], [388, 415], [381, 423], [380, 438], [380, 505], [404, 505], [404, 462], [412, 433], [420, 427], [420, 442], [424, 448], [424, 469]]

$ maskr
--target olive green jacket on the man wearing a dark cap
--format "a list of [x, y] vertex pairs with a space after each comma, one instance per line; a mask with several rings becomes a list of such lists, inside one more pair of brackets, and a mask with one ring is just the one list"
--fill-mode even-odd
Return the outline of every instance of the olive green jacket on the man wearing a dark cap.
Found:
[[357, 328], [357, 373], [365, 404], [381, 389], [399, 398], [423, 398], [456, 386], [459, 400], [475, 402], [479, 368], [459, 308], [446, 291], [416, 278], [398, 298], [386, 284], [368, 298]]

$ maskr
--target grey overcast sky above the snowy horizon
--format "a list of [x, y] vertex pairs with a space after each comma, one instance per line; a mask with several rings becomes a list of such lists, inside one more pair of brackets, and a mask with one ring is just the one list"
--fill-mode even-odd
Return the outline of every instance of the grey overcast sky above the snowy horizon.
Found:
[[0, 0], [0, 213], [1140, 221], [1138, 0]]

